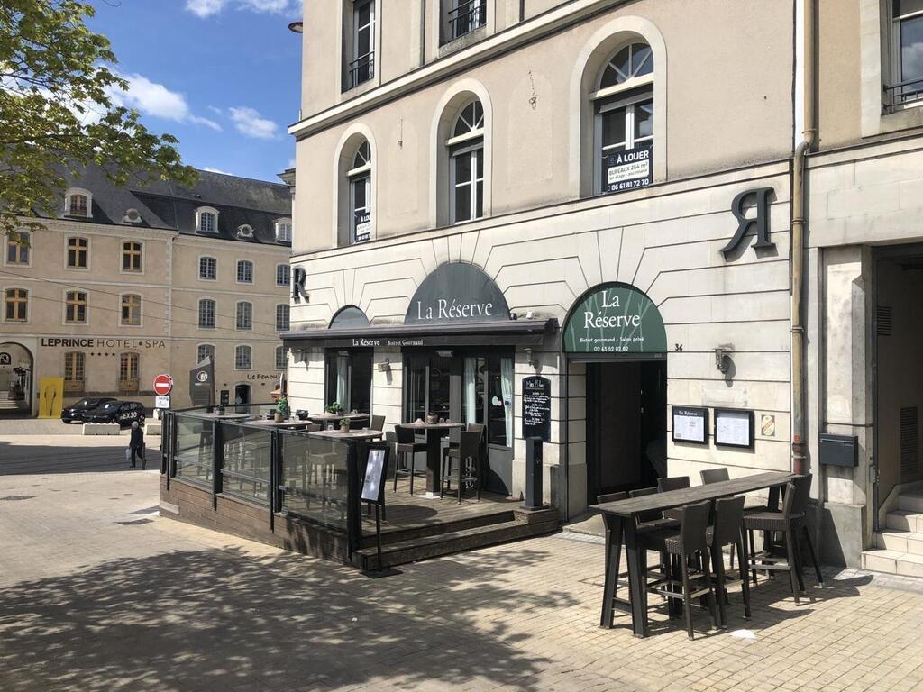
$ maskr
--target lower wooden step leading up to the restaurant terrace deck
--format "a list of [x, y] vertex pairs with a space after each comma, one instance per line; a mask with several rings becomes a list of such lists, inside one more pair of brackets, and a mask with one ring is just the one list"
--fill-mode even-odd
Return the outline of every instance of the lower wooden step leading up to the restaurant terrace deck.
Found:
[[[553, 533], [558, 529], [557, 519], [540, 523], [527, 523], [512, 519], [499, 524], [452, 531], [438, 536], [426, 536], [412, 541], [389, 543], [381, 546], [381, 561], [383, 567], [406, 565], [407, 563], [425, 560], [439, 555], [460, 553], [464, 550], [483, 548], [497, 543], [508, 543], [523, 538], [540, 536]], [[378, 565], [376, 546], [362, 548], [353, 554], [356, 567], [364, 570], [375, 569]]]

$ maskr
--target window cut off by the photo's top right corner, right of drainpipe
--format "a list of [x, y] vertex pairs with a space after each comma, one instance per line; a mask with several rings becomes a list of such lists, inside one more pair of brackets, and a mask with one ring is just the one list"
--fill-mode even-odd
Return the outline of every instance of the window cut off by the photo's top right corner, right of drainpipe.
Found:
[[887, 107], [923, 101], [923, 0], [892, 0], [892, 81]]

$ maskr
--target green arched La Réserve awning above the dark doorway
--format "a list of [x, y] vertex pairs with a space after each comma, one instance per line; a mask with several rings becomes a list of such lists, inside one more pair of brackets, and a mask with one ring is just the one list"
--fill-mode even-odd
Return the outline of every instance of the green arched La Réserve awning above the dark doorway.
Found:
[[585, 293], [563, 333], [569, 353], [663, 353], [664, 320], [650, 298], [626, 283], [604, 283]]

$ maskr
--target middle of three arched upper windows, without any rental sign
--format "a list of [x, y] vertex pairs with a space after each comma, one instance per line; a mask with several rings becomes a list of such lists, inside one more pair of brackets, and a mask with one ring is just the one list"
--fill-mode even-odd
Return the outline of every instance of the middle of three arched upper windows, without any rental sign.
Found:
[[450, 221], [484, 215], [484, 107], [471, 101], [452, 127], [449, 147]]

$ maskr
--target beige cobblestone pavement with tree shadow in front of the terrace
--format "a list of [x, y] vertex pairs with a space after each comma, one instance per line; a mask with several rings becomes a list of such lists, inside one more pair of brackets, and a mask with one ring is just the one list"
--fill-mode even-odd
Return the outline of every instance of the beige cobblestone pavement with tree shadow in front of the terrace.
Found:
[[[0, 454], [11, 449], [20, 465], [30, 457], [0, 437]], [[596, 626], [592, 537], [366, 579], [161, 519], [156, 471], [41, 463], [0, 475], [4, 692], [923, 689], [913, 579], [829, 571], [821, 590], [806, 575], [799, 606], [783, 582], [761, 581], [751, 621], [734, 593], [729, 628], [709, 631], [697, 611], [694, 641], [652, 600], [653, 636], [638, 639], [626, 615]]]

